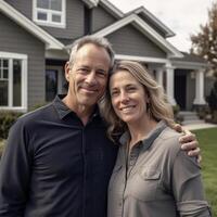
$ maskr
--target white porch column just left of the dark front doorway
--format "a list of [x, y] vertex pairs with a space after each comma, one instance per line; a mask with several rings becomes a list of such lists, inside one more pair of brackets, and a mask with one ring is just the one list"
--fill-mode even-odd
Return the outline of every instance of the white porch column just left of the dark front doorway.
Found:
[[165, 66], [166, 68], [166, 93], [167, 93], [167, 98], [168, 101], [171, 105], [176, 105], [176, 100], [174, 98], [174, 69], [175, 67], [173, 67], [170, 64], [167, 64]]

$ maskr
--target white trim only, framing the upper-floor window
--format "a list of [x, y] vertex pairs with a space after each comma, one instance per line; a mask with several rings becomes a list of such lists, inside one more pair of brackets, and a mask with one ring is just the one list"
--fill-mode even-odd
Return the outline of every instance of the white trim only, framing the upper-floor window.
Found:
[[47, 11], [46, 9], [37, 9], [37, 0], [33, 0], [33, 21], [35, 21], [38, 25], [41, 26], [49, 26], [49, 27], [58, 27], [58, 28], [65, 28], [66, 27], [66, 0], [62, 0], [62, 12], [53, 11], [54, 14], [62, 14], [62, 23], [55, 22], [48, 22], [48, 21], [40, 21], [37, 18], [37, 12], [39, 11]]

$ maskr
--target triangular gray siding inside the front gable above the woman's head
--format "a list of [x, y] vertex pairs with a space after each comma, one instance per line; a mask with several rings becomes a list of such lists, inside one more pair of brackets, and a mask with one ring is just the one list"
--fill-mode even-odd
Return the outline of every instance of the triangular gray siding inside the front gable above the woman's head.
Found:
[[131, 25], [112, 33], [107, 39], [117, 54], [166, 58], [166, 53], [161, 48]]

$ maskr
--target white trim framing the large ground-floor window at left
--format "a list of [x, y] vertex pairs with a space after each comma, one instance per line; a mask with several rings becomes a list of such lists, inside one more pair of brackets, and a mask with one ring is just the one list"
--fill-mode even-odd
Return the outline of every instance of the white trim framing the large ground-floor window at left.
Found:
[[[9, 106], [0, 106], [0, 110], [11, 110], [11, 111], [20, 111], [20, 112], [27, 112], [27, 60], [28, 56], [26, 54], [20, 53], [10, 53], [10, 52], [0, 52], [0, 59], [9, 59], [9, 60], [21, 60], [22, 61], [22, 91], [21, 91], [21, 106], [12, 106], [12, 82], [9, 82]], [[11, 61], [9, 62], [9, 74], [12, 74], [12, 65]], [[9, 75], [9, 79], [12, 76]]]

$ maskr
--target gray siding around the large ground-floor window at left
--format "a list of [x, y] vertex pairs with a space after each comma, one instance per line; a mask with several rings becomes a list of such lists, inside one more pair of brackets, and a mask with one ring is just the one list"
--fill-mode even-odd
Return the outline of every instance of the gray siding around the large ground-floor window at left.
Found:
[[0, 51], [27, 54], [28, 107], [44, 101], [44, 43], [0, 13]]

